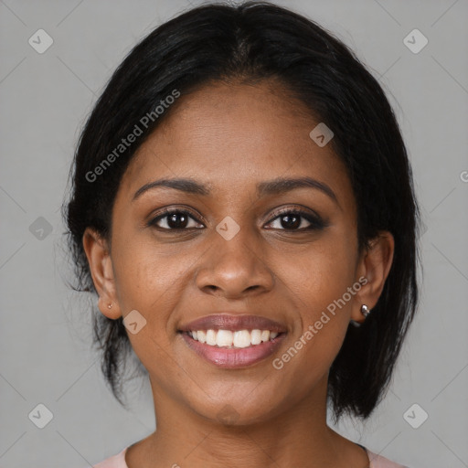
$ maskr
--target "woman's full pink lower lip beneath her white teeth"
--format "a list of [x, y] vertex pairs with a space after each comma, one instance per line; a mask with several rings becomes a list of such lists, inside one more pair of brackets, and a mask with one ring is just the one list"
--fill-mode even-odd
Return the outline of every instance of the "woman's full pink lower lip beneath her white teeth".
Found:
[[224, 348], [200, 343], [186, 333], [180, 333], [180, 335], [182, 335], [188, 347], [195, 351], [198, 356], [203, 357], [217, 367], [229, 369], [249, 367], [271, 356], [278, 349], [283, 338], [286, 336], [285, 333], [282, 333], [274, 339], [265, 341], [260, 345], [241, 348]]

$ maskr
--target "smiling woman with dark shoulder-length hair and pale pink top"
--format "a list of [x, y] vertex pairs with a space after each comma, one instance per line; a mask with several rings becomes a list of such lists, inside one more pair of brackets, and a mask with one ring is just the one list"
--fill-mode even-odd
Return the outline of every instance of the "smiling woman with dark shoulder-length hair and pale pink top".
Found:
[[263, 3], [204, 5], [115, 71], [64, 215], [122, 402], [156, 431], [100, 468], [399, 467], [327, 426], [366, 419], [416, 310], [419, 209], [399, 126], [354, 54]]

